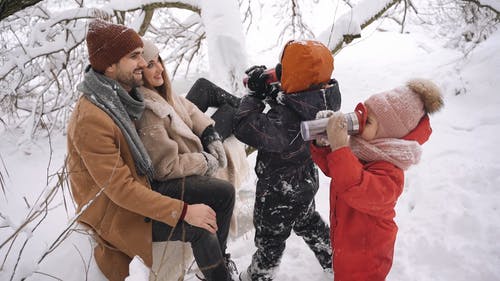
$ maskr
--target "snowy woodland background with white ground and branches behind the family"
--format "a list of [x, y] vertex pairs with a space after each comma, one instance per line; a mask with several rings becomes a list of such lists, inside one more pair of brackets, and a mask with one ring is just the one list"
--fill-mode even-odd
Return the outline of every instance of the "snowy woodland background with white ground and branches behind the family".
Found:
[[[332, 50], [344, 112], [409, 78], [433, 79], [445, 109], [407, 173], [388, 279], [500, 280], [499, 11], [499, 0], [0, 0], [0, 280], [103, 280], [64, 170], [86, 26], [97, 17], [153, 39], [178, 94], [204, 76], [244, 95], [244, 70], [273, 67], [290, 39]], [[239, 188], [240, 231], [229, 242], [240, 270], [254, 250], [255, 180]], [[320, 181], [327, 219], [329, 180]], [[328, 278], [292, 235], [277, 280]]]

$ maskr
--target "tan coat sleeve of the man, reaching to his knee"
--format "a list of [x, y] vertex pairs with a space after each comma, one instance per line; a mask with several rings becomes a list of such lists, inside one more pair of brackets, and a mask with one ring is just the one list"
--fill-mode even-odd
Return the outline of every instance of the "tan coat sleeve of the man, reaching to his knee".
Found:
[[109, 116], [102, 111], [81, 114], [78, 128], [71, 132], [71, 146], [95, 185], [118, 206], [175, 226], [184, 202], [163, 196], [134, 177], [123, 158], [122, 146], [127, 144], [119, 143], [124, 138]]

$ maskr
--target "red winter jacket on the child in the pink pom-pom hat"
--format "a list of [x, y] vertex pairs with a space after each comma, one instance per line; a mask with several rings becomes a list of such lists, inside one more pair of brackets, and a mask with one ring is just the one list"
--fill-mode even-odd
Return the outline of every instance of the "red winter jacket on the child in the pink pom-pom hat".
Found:
[[[403, 139], [427, 141], [425, 116]], [[386, 161], [362, 163], [349, 147], [311, 145], [314, 162], [332, 178], [330, 237], [335, 281], [385, 280], [392, 266], [398, 228], [394, 207], [403, 191], [403, 170]]]

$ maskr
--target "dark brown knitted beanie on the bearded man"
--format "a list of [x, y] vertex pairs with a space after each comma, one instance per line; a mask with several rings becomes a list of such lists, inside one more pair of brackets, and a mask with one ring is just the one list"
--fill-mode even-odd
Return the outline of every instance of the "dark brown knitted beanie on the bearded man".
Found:
[[96, 19], [89, 24], [87, 49], [92, 68], [104, 73], [108, 66], [117, 63], [126, 54], [142, 47], [139, 34], [121, 24]]

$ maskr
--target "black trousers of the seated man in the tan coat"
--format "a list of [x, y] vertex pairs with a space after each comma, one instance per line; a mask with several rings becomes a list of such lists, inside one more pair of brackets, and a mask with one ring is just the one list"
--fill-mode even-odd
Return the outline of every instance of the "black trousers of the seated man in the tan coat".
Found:
[[193, 255], [207, 280], [231, 280], [224, 263], [226, 241], [234, 209], [235, 191], [231, 183], [205, 176], [190, 176], [153, 182], [153, 189], [187, 204], [206, 204], [217, 216], [217, 234], [184, 221], [171, 226], [153, 220], [153, 241], [190, 242]]

